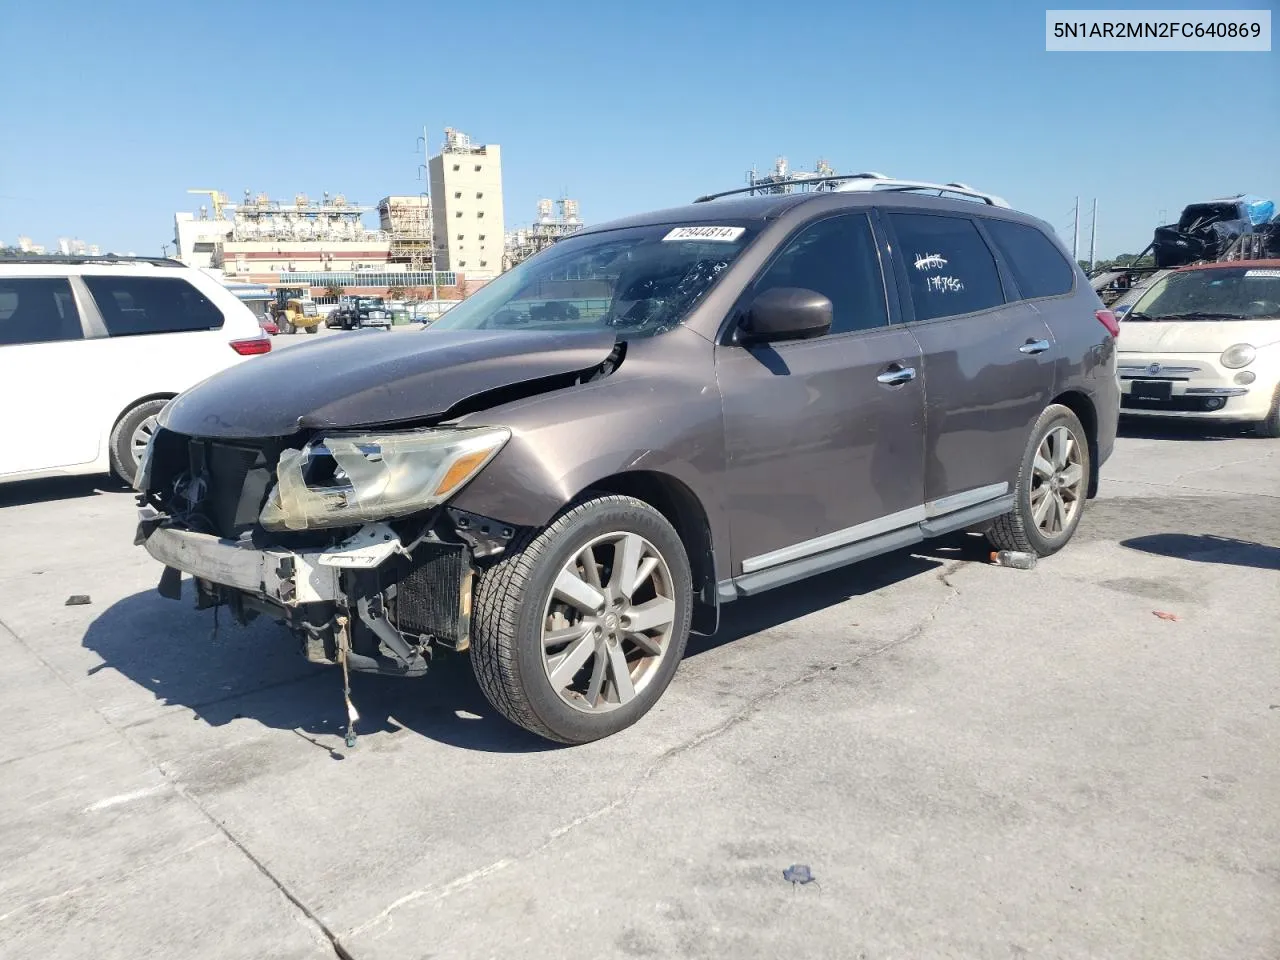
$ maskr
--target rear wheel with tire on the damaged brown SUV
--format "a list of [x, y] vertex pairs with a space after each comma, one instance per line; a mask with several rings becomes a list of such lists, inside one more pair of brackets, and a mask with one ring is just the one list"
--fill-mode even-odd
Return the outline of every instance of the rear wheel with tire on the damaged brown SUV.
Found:
[[[1043, 463], [1041, 467], [1037, 467], [1037, 453], [1041, 452], [1042, 444], [1046, 444], [1051, 434], [1055, 438], [1061, 438], [1062, 434], [1059, 433], [1061, 430], [1065, 430], [1066, 435], [1070, 436], [1071, 444], [1066, 447], [1068, 460], [1070, 461], [1068, 466], [1079, 467], [1078, 477], [1075, 476], [1075, 471], [1056, 468], [1059, 465], [1052, 460], [1048, 462], [1048, 466], [1055, 467], [1052, 476], [1044, 477], [1042, 475]], [[1052, 442], [1050, 443], [1052, 444]], [[1056, 449], [1056, 444], [1052, 444], [1052, 447]], [[1014, 488], [1014, 508], [1002, 517], [998, 517], [991, 529], [987, 530], [987, 540], [992, 548], [997, 550], [1021, 550], [1024, 553], [1034, 553], [1037, 557], [1048, 557], [1066, 547], [1084, 513], [1092, 467], [1088, 436], [1079, 417], [1069, 407], [1064, 407], [1060, 403], [1046, 407], [1039, 420], [1036, 421], [1030, 442], [1023, 453], [1023, 462], [1018, 471], [1018, 484]], [[1053, 486], [1051, 485], [1053, 477], [1059, 477], [1060, 480], [1074, 479], [1074, 483], [1065, 486]], [[1043, 493], [1041, 493], [1042, 490]], [[1056, 512], [1056, 504], [1053, 503], [1055, 490], [1059, 492], [1056, 494], [1057, 498], [1069, 511], [1065, 524], [1061, 522], [1061, 515]], [[1041, 507], [1039, 504], [1044, 503], [1046, 497], [1048, 498], [1048, 506]], [[1037, 522], [1036, 515], [1038, 508], [1047, 511], [1043, 517], [1046, 521], [1044, 526]], [[1056, 525], [1055, 520], [1059, 521]], [[1055, 526], [1059, 529], [1053, 529]]]

